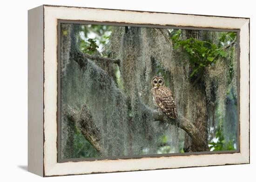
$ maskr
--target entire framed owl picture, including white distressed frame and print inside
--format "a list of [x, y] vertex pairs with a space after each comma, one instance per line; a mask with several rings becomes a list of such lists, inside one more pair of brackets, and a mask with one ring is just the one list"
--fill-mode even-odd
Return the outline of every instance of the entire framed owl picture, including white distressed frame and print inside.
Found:
[[28, 170], [249, 163], [249, 18], [28, 11]]

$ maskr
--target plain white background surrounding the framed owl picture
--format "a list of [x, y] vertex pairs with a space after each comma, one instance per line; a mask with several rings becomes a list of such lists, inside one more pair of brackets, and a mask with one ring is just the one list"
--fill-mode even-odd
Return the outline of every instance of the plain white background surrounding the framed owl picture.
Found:
[[[3, 0], [0, 4], [0, 181], [255, 181], [256, 97], [250, 94], [251, 164], [41, 178], [27, 172], [27, 10], [42, 4], [250, 18], [250, 88], [255, 90], [256, 11], [251, 0]], [[242, 88], [243, 89], [243, 88]]]

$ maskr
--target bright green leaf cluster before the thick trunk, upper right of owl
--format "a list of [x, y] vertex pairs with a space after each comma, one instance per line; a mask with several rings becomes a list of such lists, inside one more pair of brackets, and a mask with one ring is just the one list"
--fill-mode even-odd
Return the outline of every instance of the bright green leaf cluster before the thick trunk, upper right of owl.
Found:
[[226, 57], [224, 45], [230, 44], [230, 41], [235, 40], [235, 32], [222, 33], [219, 43], [216, 45], [208, 41], [201, 41], [195, 38], [181, 39], [181, 30], [174, 31], [171, 40], [174, 44], [174, 49], [182, 48], [189, 56], [189, 64], [192, 68], [190, 77], [201, 73], [202, 69], [209, 65], [216, 64], [217, 58]]

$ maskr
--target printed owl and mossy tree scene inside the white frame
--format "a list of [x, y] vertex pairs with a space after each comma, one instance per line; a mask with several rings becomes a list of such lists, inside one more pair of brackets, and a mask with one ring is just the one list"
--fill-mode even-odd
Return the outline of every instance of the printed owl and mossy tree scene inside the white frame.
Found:
[[236, 151], [237, 37], [61, 23], [60, 159]]

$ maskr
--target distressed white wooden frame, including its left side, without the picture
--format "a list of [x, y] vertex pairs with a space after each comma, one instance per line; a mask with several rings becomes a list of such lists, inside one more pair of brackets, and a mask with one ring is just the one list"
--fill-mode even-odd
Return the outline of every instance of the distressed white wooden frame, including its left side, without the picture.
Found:
[[[58, 19], [240, 30], [240, 148], [236, 153], [57, 163]], [[28, 170], [40, 176], [249, 163], [249, 19], [39, 6], [28, 11]]]

